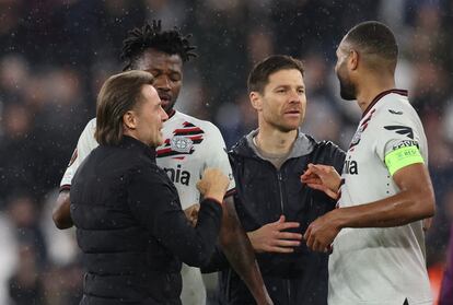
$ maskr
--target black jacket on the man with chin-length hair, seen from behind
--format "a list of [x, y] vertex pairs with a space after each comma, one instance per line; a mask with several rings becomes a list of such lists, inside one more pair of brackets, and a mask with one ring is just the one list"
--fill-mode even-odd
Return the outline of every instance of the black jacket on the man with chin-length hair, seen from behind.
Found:
[[101, 145], [72, 179], [71, 216], [85, 268], [81, 304], [181, 304], [181, 261], [209, 261], [222, 209], [201, 202], [194, 228], [155, 152], [124, 137]]

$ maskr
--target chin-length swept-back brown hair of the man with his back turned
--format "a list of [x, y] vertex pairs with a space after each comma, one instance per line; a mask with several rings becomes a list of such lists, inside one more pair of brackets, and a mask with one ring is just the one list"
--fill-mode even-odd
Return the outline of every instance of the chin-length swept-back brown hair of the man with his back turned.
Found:
[[124, 133], [123, 116], [142, 99], [142, 86], [152, 82], [151, 73], [137, 70], [115, 74], [105, 81], [96, 104], [94, 138], [100, 144], [119, 144]]

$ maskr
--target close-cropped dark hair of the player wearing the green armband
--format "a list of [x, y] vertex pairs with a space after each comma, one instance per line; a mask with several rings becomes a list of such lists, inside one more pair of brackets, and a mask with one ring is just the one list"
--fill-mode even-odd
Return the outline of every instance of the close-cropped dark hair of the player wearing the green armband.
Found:
[[394, 62], [398, 57], [398, 46], [395, 36], [385, 24], [378, 21], [367, 21], [357, 24], [346, 34], [346, 42], [364, 54], [374, 54], [380, 58]]

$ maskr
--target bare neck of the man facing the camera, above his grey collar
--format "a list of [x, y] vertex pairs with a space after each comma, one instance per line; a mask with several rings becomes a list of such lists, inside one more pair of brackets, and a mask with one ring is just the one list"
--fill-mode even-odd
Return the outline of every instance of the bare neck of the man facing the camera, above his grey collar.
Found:
[[292, 144], [298, 137], [298, 130], [283, 132], [275, 128], [259, 127], [256, 137], [256, 145], [265, 153], [269, 154], [286, 154], [292, 148]]

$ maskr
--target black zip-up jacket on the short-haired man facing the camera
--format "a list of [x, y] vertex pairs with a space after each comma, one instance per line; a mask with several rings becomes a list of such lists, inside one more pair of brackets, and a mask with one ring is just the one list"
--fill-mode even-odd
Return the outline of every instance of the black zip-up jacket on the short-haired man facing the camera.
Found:
[[[280, 169], [252, 149], [253, 131], [230, 152], [236, 181], [235, 204], [245, 231], [251, 232], [286, 215], [299, 222], [292, 230], [303, 234], [316, 218], [335, 208], [324, 192], [302, 185], [300, 176], [309, 163], [334, 166], [341, 173], [345, 152], [332, 142], [316, 142], [301, 131]], [[263, 278], [275, 304], [327, 304], [328, 255], [313, 253], [304, 241], [292, 254], [257, 254]], [[251, 293], [232, 269], [222, 271], [221, 294], [226, 304], [255, 304]]]

